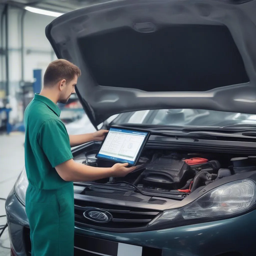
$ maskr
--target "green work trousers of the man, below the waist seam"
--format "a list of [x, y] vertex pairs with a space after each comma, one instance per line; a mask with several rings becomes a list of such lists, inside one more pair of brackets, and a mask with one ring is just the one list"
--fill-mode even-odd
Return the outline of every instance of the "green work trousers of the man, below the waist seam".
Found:
[[57, 190], [42, 190], [29, 185], [26, 213], [32, 256], [74, 254], [73, 183]]

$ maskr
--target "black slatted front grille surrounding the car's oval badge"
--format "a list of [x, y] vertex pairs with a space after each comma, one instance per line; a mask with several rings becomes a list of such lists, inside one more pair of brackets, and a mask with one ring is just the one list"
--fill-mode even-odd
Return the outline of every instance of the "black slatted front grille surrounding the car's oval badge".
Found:
[[[76, 223], [103, 230], [115, 229], [116, 231], [145, 228], [160, 213], [158, 210], [101, 204], [78, 199], [75, 199], [74, 208]], [[91, 221], [83, 216], [83, 213], [90, 208], [107, 211], [113, 216], [113, 219], [107, 223]]]

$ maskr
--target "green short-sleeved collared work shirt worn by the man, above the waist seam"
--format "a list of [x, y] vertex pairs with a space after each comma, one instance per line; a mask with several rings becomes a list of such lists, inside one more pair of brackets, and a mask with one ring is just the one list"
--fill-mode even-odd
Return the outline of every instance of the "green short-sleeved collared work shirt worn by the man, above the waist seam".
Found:
[[25, 114], [25, 167], [29, 184], [38, 189], [59, 189], [70, 184], [55, 166], [73, 158], [69, 135], [50, 99], [35, 94]]

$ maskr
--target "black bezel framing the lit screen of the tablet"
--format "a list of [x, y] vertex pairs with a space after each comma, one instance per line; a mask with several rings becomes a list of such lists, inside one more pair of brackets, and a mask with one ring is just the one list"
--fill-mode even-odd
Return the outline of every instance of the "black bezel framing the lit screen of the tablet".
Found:
[[[146, 146], [146, 144], [147, 144], [147, 142], [148, 142], [148, 139], [149, 139], [149, 137], [150, 137], [151, 131], [148, 131], [148, 130], [140, 130], [140, 129], [133, 129], [133, 128], [128, 128], [128, 127], [127, 127], [127, 128], [126, 128], [126, 127], [118, 127], [118, 126], [110, 126], [110, 127], [109, 127], [109, 130], [110, 130], [110, 128], [119, 129], [119, 130], [135, 131], [135, 132], [147, 132], [147, 135], [145, 136], [144, 141], [143, 141], [143, 143], [142, 143], [142, 145], [141, 145], [141, 147], [140, 147], [140, 149], [139, 149], [139, 151], [138, 151], [138, 153], [137, 153], [137, 156], [136, 156], [136, 158], [135, 158], [135, 160], [134, 160], [134, 163], [133, 163], [133, 164], [129, 164], [129, 163], [128, 163], [128, 164], [129, 164], [128, 166], [136, 166], [137, 163], [138, 163], [138, 160], [140, 159], [140, 156], [141, 156], [141, 154], [142, 154], [142, 152], [143, 152], [143, 150], [144, 150], [144, 148], [145, 148], [145, 146]], [[97, 159], [101, 159], [101, 160], [106, 160], [106, 161], [111, 161], [111, 162], [114, 162], [114, 163], [121, 163], [121, 164], [124, 164], [125, 162], [119, 162], [119, 161], [115, 161], [115, 160], [111, 160], [111, 159], [107, 159], [107, 158], [98, 156], [98, 154], [99, 154], [99, 152], [100, 152], [100, 150], [101, 150], [101, 147], [103, 146], [103, 143], [104, 143], [104, 141], [106, 140], [106, 137], [108, 136], [108, 134], [109, 134], [109, 133], [106, 133], [106, 136], [104, 137], [103, 141], [101, 142], [101, 145], [100, 145], [100, 147], [99, 147], [99, 149], [98, 149], [98, 151], [97, 151], [95, 157], [96, 157]]]

